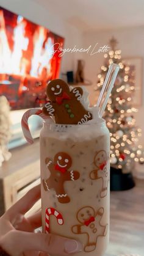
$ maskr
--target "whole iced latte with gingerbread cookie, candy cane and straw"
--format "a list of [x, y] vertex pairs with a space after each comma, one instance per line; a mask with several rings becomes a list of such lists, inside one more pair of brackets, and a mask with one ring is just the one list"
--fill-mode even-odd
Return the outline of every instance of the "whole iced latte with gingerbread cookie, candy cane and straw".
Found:
[[79, 240], [84, 249], [76, 256], [102, 256], [109, 243], [110, 138], [101, 117], [119, 68], [110, 65], [93, 108], [84, 88], [54, 79], [46, 87], [43, 109], [29, 109], [21, 121], [27, 142], [33, 143], [29, 117], [45, 120], [40, 133], [43, 232]]

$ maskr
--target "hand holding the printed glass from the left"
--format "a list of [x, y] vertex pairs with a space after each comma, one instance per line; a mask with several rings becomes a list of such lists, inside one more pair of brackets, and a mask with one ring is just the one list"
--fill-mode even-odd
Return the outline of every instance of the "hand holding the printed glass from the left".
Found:
[[82, 251], [82, 244], [57, 235], [34, 233], [41, 227], [41, 211], [24, 214], [40, 199], [40, 185], [32, 188], [0, 218], [0, 246], [12, 256], [66, 256]]

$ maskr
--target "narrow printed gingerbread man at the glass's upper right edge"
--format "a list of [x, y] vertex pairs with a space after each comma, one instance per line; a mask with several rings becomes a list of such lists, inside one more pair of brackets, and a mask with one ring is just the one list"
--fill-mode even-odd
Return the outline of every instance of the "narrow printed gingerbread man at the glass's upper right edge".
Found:
[[94, 164], [96, 166], [95, 170], [90, 172], [90, 178], [92, 180], [97, 180], [101, 178], [103, 180], [103, 187], [101, 189], [101, 197], [107, 196], [107, 186], [109, 181], [109, 171], [107, 170], [107, 154], [106, 151], [101, 150], [96, 153]]

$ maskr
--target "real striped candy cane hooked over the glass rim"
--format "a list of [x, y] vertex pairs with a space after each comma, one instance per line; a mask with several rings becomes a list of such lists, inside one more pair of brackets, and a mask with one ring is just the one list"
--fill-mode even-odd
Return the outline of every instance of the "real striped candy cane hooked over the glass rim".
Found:
[[39, 115], [39, 117], [41, 117], [44, 120], [49, 119], [52, 121], [51, 117], [43, 114], [41, 109], [34, 108], [34, 109], [27, 110], [21, 119], [21, 128], [23, 130], [24, 137], [26, 138], [27, 142], [29, 142], [29, 144], [34, 143], [34, 139], [32, 139], [31, 131], [29, 130], [29, 125], [28, 125], [28, 119], [29, 117], [31, 117], [31, 115]]

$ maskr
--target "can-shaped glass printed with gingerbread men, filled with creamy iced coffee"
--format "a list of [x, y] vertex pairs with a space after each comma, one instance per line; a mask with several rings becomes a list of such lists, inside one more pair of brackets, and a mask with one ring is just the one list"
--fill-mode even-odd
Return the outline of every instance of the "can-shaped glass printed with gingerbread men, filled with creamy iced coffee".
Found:
[[106, 122], [43, 123], [40, 133], [44, 233], [79, 240], [76, 256], [102, 256], [109, 243], [109, 151]]

